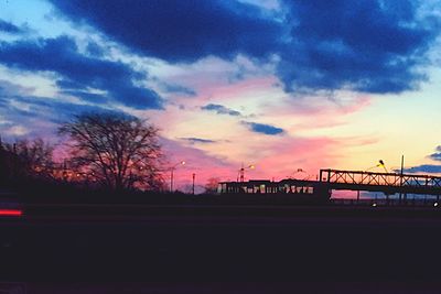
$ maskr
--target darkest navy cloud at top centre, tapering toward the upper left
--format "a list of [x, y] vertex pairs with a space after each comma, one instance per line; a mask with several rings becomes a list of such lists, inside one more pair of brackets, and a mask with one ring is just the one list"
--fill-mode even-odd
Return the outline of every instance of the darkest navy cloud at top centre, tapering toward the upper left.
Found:
[[171, 62], [238, 53], [267, 57], [280, 25], [255, 6], [223, 0], [52, 1], [130, 48]]

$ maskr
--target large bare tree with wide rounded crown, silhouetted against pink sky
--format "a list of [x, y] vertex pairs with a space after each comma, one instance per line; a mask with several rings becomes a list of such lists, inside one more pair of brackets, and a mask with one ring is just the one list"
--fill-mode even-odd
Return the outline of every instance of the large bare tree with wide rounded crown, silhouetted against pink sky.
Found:
[[158, 129], [136, 117], [85, 113], [58, 129], [69, 137], [71, 165], [111, 189], [158, 189]]

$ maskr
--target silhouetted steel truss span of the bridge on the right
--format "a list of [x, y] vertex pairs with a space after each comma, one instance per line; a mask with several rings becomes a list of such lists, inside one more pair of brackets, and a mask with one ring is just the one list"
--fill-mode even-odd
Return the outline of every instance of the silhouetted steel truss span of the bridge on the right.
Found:
[[321, 170], [320, 182], [330, 184], [421, 187], [441, 189], [441, 177], [432, 175]]

